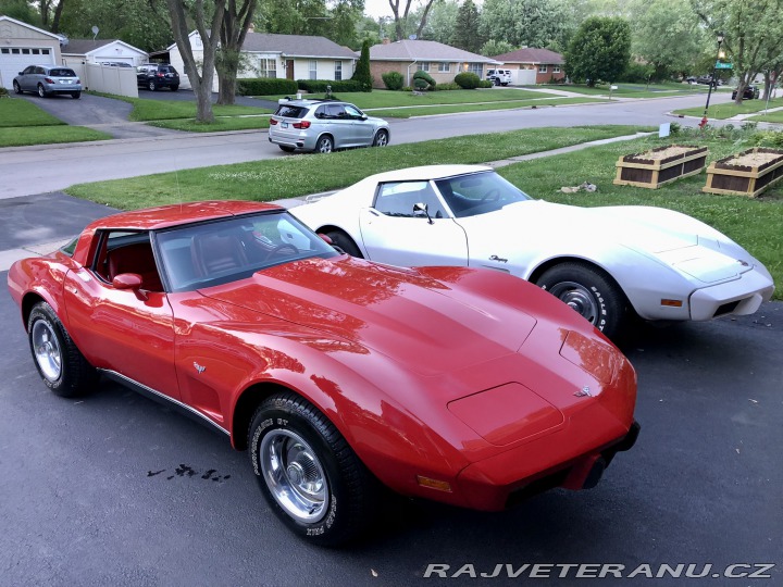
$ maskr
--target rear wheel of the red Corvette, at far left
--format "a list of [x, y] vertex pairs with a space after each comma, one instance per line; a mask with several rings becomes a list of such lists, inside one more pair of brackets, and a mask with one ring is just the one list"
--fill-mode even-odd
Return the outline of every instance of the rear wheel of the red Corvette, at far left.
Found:
[[36, 369], [55, 395], [71, 398], [89, 391], [98, 379], [54, 310], [39, 302], [27, 319], [27, 336]]

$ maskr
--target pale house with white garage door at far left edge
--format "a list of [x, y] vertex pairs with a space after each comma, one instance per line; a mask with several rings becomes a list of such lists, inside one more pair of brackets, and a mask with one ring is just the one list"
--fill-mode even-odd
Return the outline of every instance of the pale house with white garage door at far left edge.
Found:
[[13, 88], [13, 78], [27, 65], [60, 65], [62, 41], [59, 35], [0, 15], [0, 86]]

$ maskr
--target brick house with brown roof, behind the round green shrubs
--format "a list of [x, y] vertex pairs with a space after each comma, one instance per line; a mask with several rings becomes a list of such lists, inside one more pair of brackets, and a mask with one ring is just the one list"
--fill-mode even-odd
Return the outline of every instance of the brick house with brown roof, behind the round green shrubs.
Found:
[[388, 72], [402, 74], [406, 86], [410, 86], [413, 74], [419, 70], [430, 74], [437, 83], [446, 83], [453, 82], [455, 76], [462, 72], [472, 72], [484, 79], [487, 67], [498, 63], [437, 41], [407, 39], [390, 42], [384, 39], [382, 45], [370, 48], [370, 74], [376, 88], [385, 87], [381, 76]]

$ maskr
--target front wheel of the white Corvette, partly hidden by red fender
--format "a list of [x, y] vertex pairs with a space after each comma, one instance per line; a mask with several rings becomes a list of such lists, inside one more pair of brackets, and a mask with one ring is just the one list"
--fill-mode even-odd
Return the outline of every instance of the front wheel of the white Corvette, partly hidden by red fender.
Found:
[[626, 313], [625, 296], [599, 270], [582, 263], [561, 263], [536, 282], [575, 310], [609, 338], [620, 335]]

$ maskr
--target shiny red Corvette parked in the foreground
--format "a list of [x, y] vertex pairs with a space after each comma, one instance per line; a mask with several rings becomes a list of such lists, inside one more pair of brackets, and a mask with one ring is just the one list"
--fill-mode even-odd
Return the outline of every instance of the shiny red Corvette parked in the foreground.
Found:
[[633, 367], [546, 291], [355, 259], [270, 204], [101, 218], [9, 288], [53, 392], [102, 374], [227, 434], [321, 545], [383, 486], [478, 510], [592, 487], [638, 433]]

